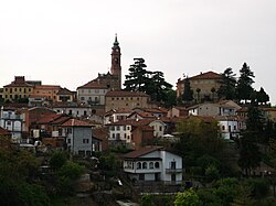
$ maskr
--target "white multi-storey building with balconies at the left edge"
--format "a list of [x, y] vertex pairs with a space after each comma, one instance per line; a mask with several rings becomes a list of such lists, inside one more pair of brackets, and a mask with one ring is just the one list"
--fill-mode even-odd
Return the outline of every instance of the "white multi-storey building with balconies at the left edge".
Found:
[[0, 111], [0, 127], [11, 132], [12, 141], [20, 143], [22, 138], [22, 117], [15, 109], [1, 107]]

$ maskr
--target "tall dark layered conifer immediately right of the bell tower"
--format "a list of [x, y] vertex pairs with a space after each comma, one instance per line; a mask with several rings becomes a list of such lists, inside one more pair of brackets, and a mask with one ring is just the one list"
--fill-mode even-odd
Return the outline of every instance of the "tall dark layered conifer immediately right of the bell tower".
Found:
[[135, 64], [129, 67], [129, 75], [126, 75], [125, 90], [145, 91], [149, 80], [149, 73], [146, 71], [147, 65], [144, 58], [134, 58]]

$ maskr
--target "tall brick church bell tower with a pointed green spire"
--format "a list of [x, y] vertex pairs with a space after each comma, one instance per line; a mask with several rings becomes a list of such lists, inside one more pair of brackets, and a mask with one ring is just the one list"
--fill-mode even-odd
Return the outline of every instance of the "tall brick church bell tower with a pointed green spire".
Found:
[[115, 35], [115, 42], [112, 47], [112, 68], [110, 73], [114, 76], [118, 76], [118, 84], [121, 87], [121, 66], [120, 66], [120, 47], [117, 40], [117, 34]]

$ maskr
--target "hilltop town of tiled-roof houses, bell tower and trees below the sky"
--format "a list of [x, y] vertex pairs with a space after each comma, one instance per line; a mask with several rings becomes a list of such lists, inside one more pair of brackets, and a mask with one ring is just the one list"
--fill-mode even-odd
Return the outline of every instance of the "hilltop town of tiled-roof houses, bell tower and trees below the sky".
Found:
[[179, 71], [174, 90], [144, 58], [123, 83], [120, 62], [116, 36], [110, 71], [76, 90], [0, 88], [3, 205], [275, 204], [276, 108], [246, 63], [238, 78]]

